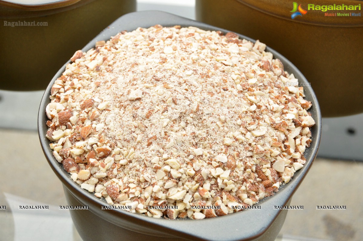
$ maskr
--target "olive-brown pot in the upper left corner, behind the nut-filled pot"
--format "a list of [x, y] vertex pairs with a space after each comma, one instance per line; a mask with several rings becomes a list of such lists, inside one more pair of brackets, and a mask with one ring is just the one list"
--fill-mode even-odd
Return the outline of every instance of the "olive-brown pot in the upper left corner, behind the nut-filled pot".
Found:
[[[34, 2], [0, 1], [0, 89], [45, 89], [74, 52], [136, 9], [136, 0]], [[16, 26], [24, 21], [36, 26]]]

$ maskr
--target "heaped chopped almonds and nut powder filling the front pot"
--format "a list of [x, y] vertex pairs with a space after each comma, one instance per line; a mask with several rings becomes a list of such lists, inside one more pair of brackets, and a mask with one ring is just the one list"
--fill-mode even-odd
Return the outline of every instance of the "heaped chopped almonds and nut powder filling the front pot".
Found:
[[[265, 48], [155, 25], [77, 51], [46, 107], [54, 157], [83, 189], [150, 217], [222, 216], [273, 195], [303, 167], [315, 122]], [[148, 208], [165, 205], [178, 208]]]

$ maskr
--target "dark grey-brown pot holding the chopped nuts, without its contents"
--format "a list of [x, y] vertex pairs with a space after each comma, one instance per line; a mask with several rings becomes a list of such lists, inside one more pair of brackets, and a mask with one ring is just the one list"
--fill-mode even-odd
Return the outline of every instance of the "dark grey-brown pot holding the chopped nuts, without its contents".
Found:
[[[96, 41], [109, 40], [111, 36], [121, 30], [132, 31], [137, 27], [148, 28], [155, 24], [163, 26], [196, 26], [205, 30], [228, 32], [225, 29], [164, 12], [136, 12], [126, 14], [116, 20], [110, 25], [110, 28], [101, 32], [82, 51], [94, 47]], [[242, 35], [240, 37], [254, 41]], [[285, 70], [293, 73], [300, 82], [307, 83], [301, 72], [285, 57], [269, 47], [266, 51], [272, 52], [275, 58], [279, 58], [284, 64]], [[203, 220], [168, 220], [155, 219], [123, 210], [102, 210], [101, 207], [108, 206], [106, 201], [82, 190], [78, 184], [70, 179], [69, 173], [63, 169], [62, 165], [54, 159], [52, 150], [49, 147], [50, 142], [45, 137], [48, 130], [45, 124], [48, 120], [45, 115], [45, 107], [50, 102], [49, 95], [52, 84], [64, 69], [65, 65], [57, 72], [44, 93], [38, 114], [38, 132], [45, 157], [64, 185], [68, 204], [89, 206], [88, 211], [71, 211], [74, 225], [83, 240], [275, 240], [284, 223], [287, 211], [274, 209], [274, 206], [288, 205], [290, 203], [291, 196], [303, 180], [318, 151], [321, 135], [321, 113], [317, 98], [311, 87], [305, 87], [305, 95], [306, 99], [313, 104], [310, 113], [316, 121], [316, 124], [311, 128], [313, 142], [311, 142], [310, 148], [305, 151], [307, 160], [305, 165], [295, 173], [289, 183], [280, 187], [280, 191], [274, 196], [260, 201], [257, 205], [261, 205], [261, 209], [244, 210]]]

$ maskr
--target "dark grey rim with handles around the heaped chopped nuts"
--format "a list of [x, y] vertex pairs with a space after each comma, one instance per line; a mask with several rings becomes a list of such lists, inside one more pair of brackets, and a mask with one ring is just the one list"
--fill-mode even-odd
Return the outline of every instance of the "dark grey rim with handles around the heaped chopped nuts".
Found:
[[[122, 30], [132, 31], [138, 27], [148, 28], [155, 24], [162, 26], [196, 26], [204, 30], [220, 30], [223, 33], [229, 32], [226, 29], [217, 28], [212, 25], [204, 24], [199, 21], [190, 20], [188, 18], [176, 16], [174, 14], [161, 12], [161, 11], [142, 11], [132, 12], [123, 15], [114, 21], [109, 27], [98, 34], [93, 40], [91, 40], [82, 51], [85, 52], [94, 47], [95, 42], [101, 40], [109, 40], [111, 36], [116, 35]], [[249, 37], [238, 34], [240, 38], [256, 42]], [[289, 73], [293, 73], [299, 80], [299, 83], [309, 83], [302, 73], [285, 57], [277, 53], [277, 51], [267, 47], [266, 51], [273, 54], [274, 58], [278, 58], [285, 66], [285, 70]], [[101, 218], [105, 218], [113, 221], [120, 227], [132, 230], [134, 232], [150, 234], [153, 232], [161, 232], [165, 236], [183, 236], [189, 237], [194, 240], [253, 240], [254, 238], [262, 236], [266, 230], [272, 225], [277, 215], [281, 212], [281, 209], [274, 209], [274, 206], [284, 206], [291, 198], [307, 171], [310, 169], [313, 163], [320, 143], [321, 137], [321, 111], [319, 108], [317, 97], [311, 88], [311, 86], [305, 86], [305, 99], [311, 101], [313, 106], [310, 108], [310, 113], [315, 120], [315, 125], [311, 128], [312, 142], [310, 148], [305, 151], [306, 163], [297, 171], [291, 181], [285, 185], [282, 185], [279, 191], [268, 198], [262, 199], [257, 205], [261, 206], [261, 209], [244, 210], [242, 212], [232, 213], [229, 215], [203, 220], [167, 220], [156, 219], [148, 217], [146, 215], [140, 215], [138, 213], [130, 213], [124, 210], [106, 209], [101, 210], [102, 206], [109, 206], [105, 201], [96, 198], [93, 193], [89, 193], [83, 190], [76, 182], [70, 178], [70, 174], [67, 173], [62, 164], [59, 163], [52, 154], [50, 149], [50, 141], [45, 137], [48, 130], [46, 121], [48, 117], [45, 114], [45, 107], [50, 102], [50, 90], [54, 81], [62, 75], [65, 66], [70, 63], [68, 61], [63, 65], [60, 70], [54, 75], [46, 88], [42, 97], [39, 112], [38, 112], [38, 134], [43, 149], [44, 155], [53, 169], [54, 173], [60, 178], [64, 186], [71, 192], [76, 199], [81, 199], [83, 202], [87, 202], [87, 205], [91, 204], [93, 208], [90, 208], [95, 214]], [[85, 204], [86, 205], [86, 204]], [[256, 205], [256, 204], [255, 204]], [[95, 207], [98, 207], [95, 208]], [[126, 220], [124, 222], [122, 220]], [[216, 223], [218, 221], [218, 223]], [[191, 223], [192, 222], [192, 223]], [[236, 225], [233, 225], [236, 224]], [[140, 230], [140, 227], [143, 229]], [[157, 231], [159, 230], [159, 231]], [[223, 234], [223, 236], [221, 236]]]

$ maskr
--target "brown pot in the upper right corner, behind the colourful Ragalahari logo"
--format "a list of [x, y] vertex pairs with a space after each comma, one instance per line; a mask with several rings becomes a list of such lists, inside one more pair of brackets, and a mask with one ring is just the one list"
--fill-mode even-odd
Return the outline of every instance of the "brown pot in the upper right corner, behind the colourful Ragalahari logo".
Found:
[[361, 13], [358, 0], [314, 1], [315, 5], [358, 5], [362, 10], [308, 9], [291, 18], [293, 1], [198, 0], [196, 18], [259, 39], [289, 59], [305, 75], [318, 96], [322, 115], [344, 116], [363, 112], [363, 16], [325, 16], [325, 13]]

